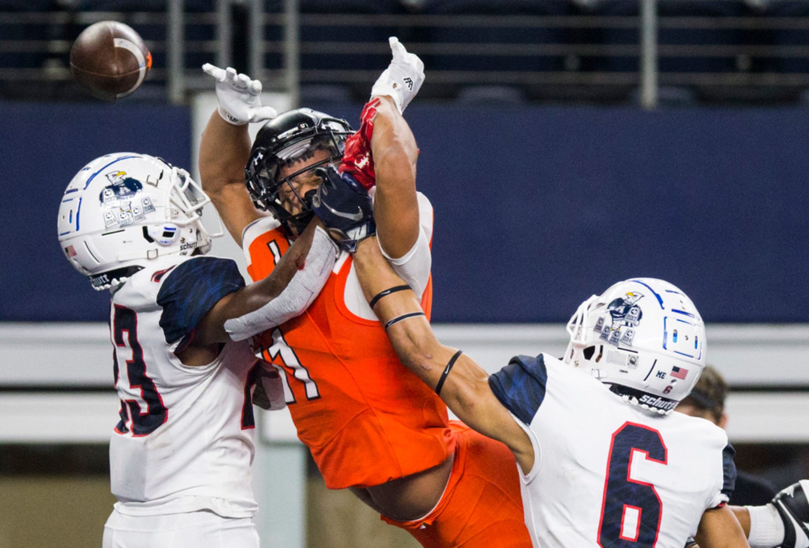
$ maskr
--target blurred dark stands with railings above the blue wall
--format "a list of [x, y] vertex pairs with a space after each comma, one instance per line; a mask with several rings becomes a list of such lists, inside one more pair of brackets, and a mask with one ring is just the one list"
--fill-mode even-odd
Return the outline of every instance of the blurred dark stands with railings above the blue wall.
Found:
[[432, 100], [783, 104], [809, 87], [807, 0], [2, 0], [0, 94], [87, 97], [70, 45], [103, 19], [153, 53], [138, 100], [182, 103], [211, 57], [303, 103], [363, 100], [388, 36], [424, 60]]

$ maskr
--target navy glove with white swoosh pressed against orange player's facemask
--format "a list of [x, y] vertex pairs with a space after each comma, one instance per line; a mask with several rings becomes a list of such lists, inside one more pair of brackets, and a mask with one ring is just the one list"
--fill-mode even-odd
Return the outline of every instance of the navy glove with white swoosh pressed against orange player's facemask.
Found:
[[349, 173], [341, 175], [332, 166], [316, 173], [323, 181], [311, 200], [312, 209], [337, 245], [354, 253], [359, 242], [376, 233], [371, 197]]

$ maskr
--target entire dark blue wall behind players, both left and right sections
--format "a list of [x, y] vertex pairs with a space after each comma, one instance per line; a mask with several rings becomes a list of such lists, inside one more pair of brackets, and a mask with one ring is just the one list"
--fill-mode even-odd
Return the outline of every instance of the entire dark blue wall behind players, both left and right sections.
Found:
[[[359, 105], [316, 105], [356, 120]], [[632, 276], [708, 321], [809, 321], [809, 111], [422, 106], [434, 321], [566, 321]], [[106, 319], [56, 240], [61, 192], [108, 151], [188, 165], [183, 108], [0, 104], [2, 321]]]

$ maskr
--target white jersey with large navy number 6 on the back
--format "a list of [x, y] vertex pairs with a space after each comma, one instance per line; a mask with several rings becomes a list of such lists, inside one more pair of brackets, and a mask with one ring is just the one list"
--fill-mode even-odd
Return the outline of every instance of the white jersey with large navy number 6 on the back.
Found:
[[734, 450], [705, 419], [653, 416], [547, 355], [511, 359], [489, 385], [534, 446], [520, 474], [534, 546], [682, 548], [733, 491]]

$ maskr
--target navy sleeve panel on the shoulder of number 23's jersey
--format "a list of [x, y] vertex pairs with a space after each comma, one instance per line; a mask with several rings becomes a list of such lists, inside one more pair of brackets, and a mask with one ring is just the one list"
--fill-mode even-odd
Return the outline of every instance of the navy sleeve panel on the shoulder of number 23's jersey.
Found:
[[160, 328], [166, 342], [190, 340], [203, 316], [225, 295], [244, 287], [239, 267], [231, 259], [194, 257], [171, 270], [157, 294], [157, 304], [163, 308]]

